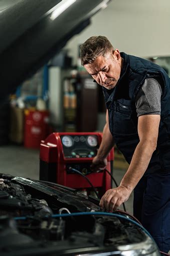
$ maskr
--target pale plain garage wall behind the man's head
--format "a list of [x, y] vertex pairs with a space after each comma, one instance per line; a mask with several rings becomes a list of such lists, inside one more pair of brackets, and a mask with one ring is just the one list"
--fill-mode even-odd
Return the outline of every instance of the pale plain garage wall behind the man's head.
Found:
[[120, 51], [141, 57], [170, 55], [169, 0], [112, 0], [91, 19], [91, 25], [66, 45], [78, 55], [78, 45], [93, 35], [104, 35]]

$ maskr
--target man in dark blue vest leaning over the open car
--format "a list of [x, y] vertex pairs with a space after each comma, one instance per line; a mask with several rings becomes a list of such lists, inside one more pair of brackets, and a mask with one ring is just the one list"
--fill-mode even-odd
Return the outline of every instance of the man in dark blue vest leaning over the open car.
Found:
[[107, 106], [103, 139], [92, 168], [106, 166], [114, 145], [130, 164], [101, 208], [112, 212], [134, 190], [133, 210], [159, 249], [170, 249], [170, 82], [158, 65], [120, 53], [104, 36], [81, 46], [81, 63], [103, 88]]

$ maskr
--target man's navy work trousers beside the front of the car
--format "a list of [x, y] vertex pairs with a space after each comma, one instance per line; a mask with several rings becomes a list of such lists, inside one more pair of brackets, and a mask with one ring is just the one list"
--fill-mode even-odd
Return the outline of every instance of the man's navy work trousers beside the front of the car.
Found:
[[170, 250], [170, 173], [143, 176], [134, 189], [133, 215], [159, 250]]

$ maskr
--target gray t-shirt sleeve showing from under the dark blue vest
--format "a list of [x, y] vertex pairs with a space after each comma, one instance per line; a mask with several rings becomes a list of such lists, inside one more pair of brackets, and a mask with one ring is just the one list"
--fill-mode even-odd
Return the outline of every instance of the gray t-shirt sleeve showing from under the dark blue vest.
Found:
[[137, 116], [160, 115], [160, 97], [161, 86], [158, 80], [146, 78], [135, 97]]

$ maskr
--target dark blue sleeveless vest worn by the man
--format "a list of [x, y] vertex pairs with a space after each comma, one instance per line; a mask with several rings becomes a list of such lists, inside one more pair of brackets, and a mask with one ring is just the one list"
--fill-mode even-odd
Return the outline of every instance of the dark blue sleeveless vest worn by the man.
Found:
[[130, 163], [139, 142], [138, 117], [135, 96], [145, 78], [161, 80], [161, 115], [156, 150], [153, 152], [147, 172], [170, 171], [170, 79], [160, 66], [132, 55], [121, 53], [124, 59], [120, 78], [113, 90], [103, 88], [109, 113], [109, 128], [118, 149]]

